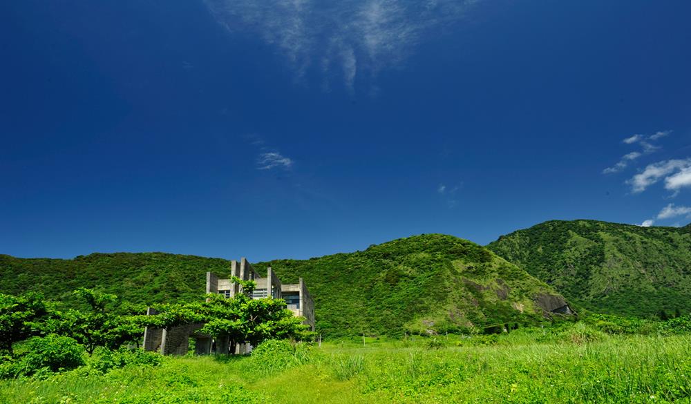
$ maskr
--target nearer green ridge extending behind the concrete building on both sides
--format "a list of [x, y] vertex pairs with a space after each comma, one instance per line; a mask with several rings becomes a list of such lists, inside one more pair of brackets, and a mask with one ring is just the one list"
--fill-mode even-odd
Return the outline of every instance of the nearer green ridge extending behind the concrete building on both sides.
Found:
[[[42, 291], [73, 302], [70, 291], [96, 287], [151, 304], [199, 299], [206, 271], [229, 261], [165, 253], [114, 253], [74, 260], [0, 256], [0, 292]], [[449, 235], [419, 235], [310, 260], [275, 260], [283, 282], [305, 279], [325, 336], [483, 331], [534, 323], [566, 305], [562, 296], [488, 249]]]

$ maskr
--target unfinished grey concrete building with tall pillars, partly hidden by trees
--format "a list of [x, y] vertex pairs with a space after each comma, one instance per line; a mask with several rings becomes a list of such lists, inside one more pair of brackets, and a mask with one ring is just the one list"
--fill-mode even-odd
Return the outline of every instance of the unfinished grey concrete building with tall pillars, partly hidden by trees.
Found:
[[[304, 324], [309, 325], [314, 331], [314, 300], [310, 296], [310, 291], [303, 279], [300, 278], [296, 284], [283, 285], [271, 267], [267, 269], [267, 276], [262, 278], [247, 259], [242, 258], [240, 262], [231, 261], [230, 276], [228, 278], [218, 278], [215, 273], [207, 272], [207, 294], [223, 294], [226, 298], [232, 298], [238, 293], [243, 293], [243, 287], [236, 282], [232, 282], [231, 277], [236, 276], [242, 280], [253, 280], [256, 288], [252, 292], [252, 298], [261, 299], [272, 297], [274, 299], [284, 299], [287, 308], [295, 316], [305, 318]], [[156, 314], [153, 309], [149, 309], [147, 315]], [[204, 324], [186, 324], [171, 329], [154, 329], [147, 327], [144, 331], [144, 349], [147, 351], [158, 351], [163, 355], [184, 355], [189, 350], [189, 338], [195, 340], [195, 352], [198, 355], [211, 354], [245, 354], [252, 350], [247, 344], [230, 346], [227, 338], [215, 340], [211, 336], [201, 334], [198, 330]]]

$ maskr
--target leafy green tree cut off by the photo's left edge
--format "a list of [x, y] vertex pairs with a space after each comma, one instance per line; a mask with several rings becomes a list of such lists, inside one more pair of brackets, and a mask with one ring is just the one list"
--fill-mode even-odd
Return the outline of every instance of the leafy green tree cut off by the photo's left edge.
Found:
[[12, 344], [39, 334], [39, 321], [47, 314], [41, 294], [0, 294], [0, 349], [14, 356]]

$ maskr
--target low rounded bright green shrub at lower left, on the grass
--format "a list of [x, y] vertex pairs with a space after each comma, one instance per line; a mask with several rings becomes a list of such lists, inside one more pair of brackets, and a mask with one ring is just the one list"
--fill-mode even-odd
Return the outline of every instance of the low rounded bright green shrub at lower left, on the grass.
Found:
[[26, 341], [26, 353], [14, 364], [15, 376], [62, 372], [84, 365], [84, 346], [66, 336], [50, 334]]

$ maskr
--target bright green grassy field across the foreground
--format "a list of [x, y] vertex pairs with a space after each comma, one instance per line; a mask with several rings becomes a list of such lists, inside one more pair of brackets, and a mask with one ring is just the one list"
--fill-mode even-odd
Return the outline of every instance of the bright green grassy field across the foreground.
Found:
[[[447, 345], [459, 345], [448, 343]], [[460, 344], [463, 345], [463, 344]], [[691, 403], [691, 336], [354, 342], [0, 383], [0, 403]]]

